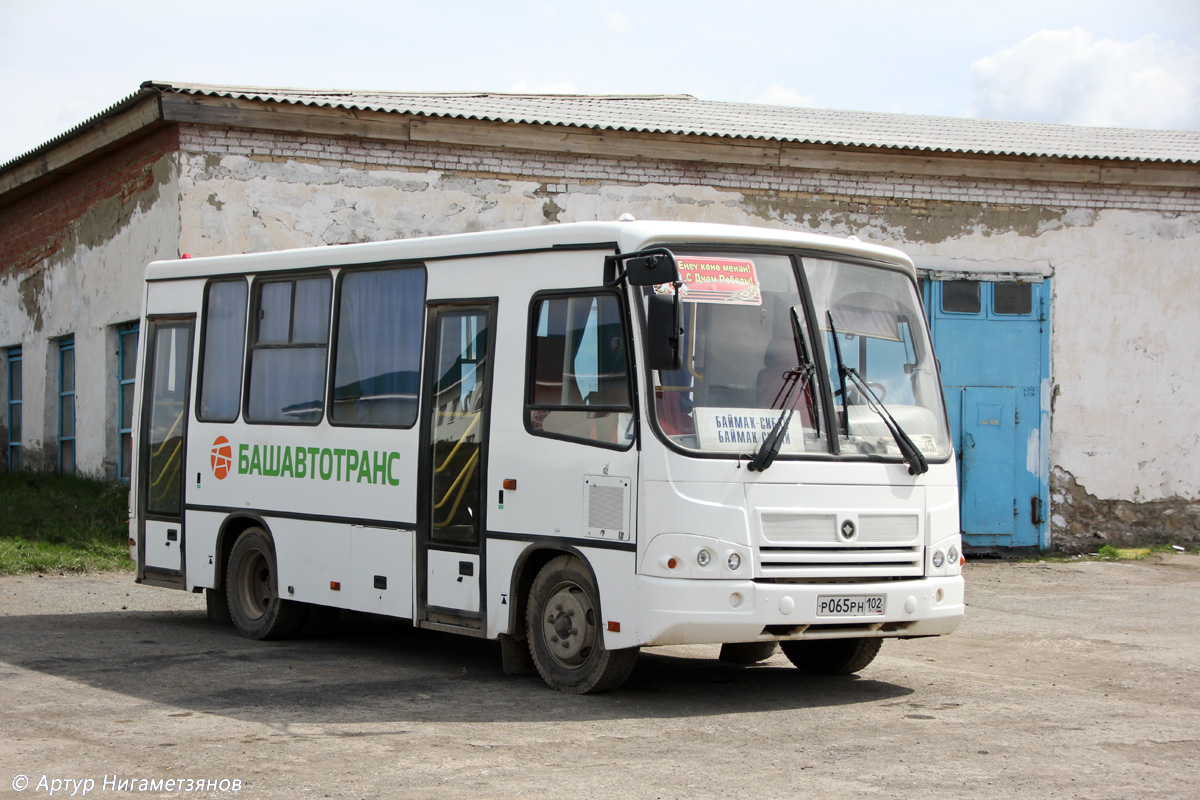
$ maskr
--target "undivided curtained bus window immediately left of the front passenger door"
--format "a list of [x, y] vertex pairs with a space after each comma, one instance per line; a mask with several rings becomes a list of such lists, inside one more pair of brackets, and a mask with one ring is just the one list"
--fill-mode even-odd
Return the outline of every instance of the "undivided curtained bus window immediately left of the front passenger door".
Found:
[[334, 425], [416, 423], [425, 270], [347, 270], [338, 278]]

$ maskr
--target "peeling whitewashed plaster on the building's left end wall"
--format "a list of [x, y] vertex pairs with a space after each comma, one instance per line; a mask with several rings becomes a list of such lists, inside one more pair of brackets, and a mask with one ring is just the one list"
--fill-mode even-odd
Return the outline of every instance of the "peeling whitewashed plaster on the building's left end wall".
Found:
[[104, 198], [65, 224], [53, 255], [0, 273], [0, 348], [22, 347], [22, 449], [29, 469], [55, 468], [59, 341], [71, 335], [77, 470], [116, 476], [113, 326], [138, 320], [145, 265], [179, 254], [175, 156], [158, 157], [150, 174], [152, 180], [140, 191]]

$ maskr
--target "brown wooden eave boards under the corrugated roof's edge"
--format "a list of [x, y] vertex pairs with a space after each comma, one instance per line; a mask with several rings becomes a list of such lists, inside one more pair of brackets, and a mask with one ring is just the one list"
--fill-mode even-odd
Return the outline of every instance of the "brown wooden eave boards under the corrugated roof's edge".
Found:
[[[78, 168], [130, 138], [172, 122], [618, 158], [929, 178], [1200, 188], [1200, 170], [1177, 162], [851, 146], [794, 139], [505, 121], [382, 110], [358, 107], [353, 102], [305, 102], [300, 98], [308, 92], [317, 95], [317, 90], [287, 90], [299, 95], [295, 101], [248, 97], [247, 91], [253, 90], [148, 80], [137, 92], [112, 108], [0, 164], [0, 204], [32, 191], [54, 173]], [[319, 94], [329, 97], [330, 94], [354, 92]], [[438, 96], [488, 94], [439, 92]]]

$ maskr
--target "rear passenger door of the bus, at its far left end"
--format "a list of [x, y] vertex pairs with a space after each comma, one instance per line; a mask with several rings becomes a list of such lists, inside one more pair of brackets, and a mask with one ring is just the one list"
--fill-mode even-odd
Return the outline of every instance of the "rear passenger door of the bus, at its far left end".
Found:
[[184, 588], [184, 465], [192, 378], [192, 324], [151, 319], [138, 467], [138, 582]]

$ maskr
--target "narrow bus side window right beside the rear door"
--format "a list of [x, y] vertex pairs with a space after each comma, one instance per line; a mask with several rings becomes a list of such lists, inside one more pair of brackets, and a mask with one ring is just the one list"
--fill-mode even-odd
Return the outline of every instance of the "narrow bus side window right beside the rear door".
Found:
[[246, 281], [214, 281], [204, 293], [204, 343], [196, 417], [233, 422], [241, 405], [241, 366], [246, 344]]

